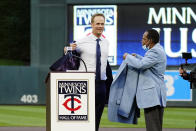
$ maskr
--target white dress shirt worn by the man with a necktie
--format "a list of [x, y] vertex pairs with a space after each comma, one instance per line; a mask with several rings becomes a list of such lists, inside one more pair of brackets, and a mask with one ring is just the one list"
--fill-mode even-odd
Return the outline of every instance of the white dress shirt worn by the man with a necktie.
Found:
[[[88, 72], [96, 72], [96, 45], [98, 39], [92, 33], [88, 34], [83, 39], [77, 40], [77, 52], [80, 52], [81, 58], [84, 60], [87, 66]], [[109, 42], [102, 35], [100, 38], [99, 44], [101, 49], [101, 80], [106, 80], [106, 66], [108, 58], [108, 47]], [[80, 71], [85, 71], [84, 64], [80, 61]]]

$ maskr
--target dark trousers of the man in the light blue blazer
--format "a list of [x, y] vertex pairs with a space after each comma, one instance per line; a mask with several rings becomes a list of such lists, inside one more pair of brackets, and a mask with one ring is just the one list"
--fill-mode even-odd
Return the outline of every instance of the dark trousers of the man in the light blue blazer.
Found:
[[154, 106], [144, 109], [146, 131], [162, 131], [164, 108]]

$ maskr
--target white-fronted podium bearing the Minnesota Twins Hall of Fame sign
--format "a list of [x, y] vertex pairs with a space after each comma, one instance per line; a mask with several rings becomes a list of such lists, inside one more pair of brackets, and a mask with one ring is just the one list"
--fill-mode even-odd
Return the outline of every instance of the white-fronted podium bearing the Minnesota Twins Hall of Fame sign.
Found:
[[95, 131], [95, 73], [50, 72], [46, 131]]

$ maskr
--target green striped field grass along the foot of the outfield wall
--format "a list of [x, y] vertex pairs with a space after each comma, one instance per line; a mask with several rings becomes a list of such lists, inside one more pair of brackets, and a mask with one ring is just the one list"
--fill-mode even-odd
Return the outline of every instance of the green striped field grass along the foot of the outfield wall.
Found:
[[[0, 105], [0, 126], [19, 127], [45, 127], [46, 107], [45, 106], [11, 106]], [[196, 108], [165, 108], [164, 128], [195, 128]], [[137, 125], [110, 122], [107, 118], [107, 107], [101, 119], [101, 127], [122, 127], [122, 128], [144, 128], [144, 113], [141, 110], [141, 117]]]

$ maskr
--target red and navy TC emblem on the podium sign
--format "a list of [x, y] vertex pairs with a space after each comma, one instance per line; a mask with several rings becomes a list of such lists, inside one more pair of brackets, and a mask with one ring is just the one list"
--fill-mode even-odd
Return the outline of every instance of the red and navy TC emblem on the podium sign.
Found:
[[[74, 111], [77, 111], [81, 108], [81, 105], [77, 106], [77, 107], [74, 107], [74, 103], [77, 102], [79, 104], [81, 104], [81, 101], [75, 97], [79, 97], [80, 98], [80, 95], [74, 95], [74, 94], [70, 94], [70, 95], [65, 95], [64, 98], [68, 97], [68, 96], [71, 96], [71, 98], [67, 99], [64, 103], [63, 103], [63, 106], [71, 111], [72, 114], [74, 114]], [[68, 102], [71, 101], [71, 108], [68, 107]]]

